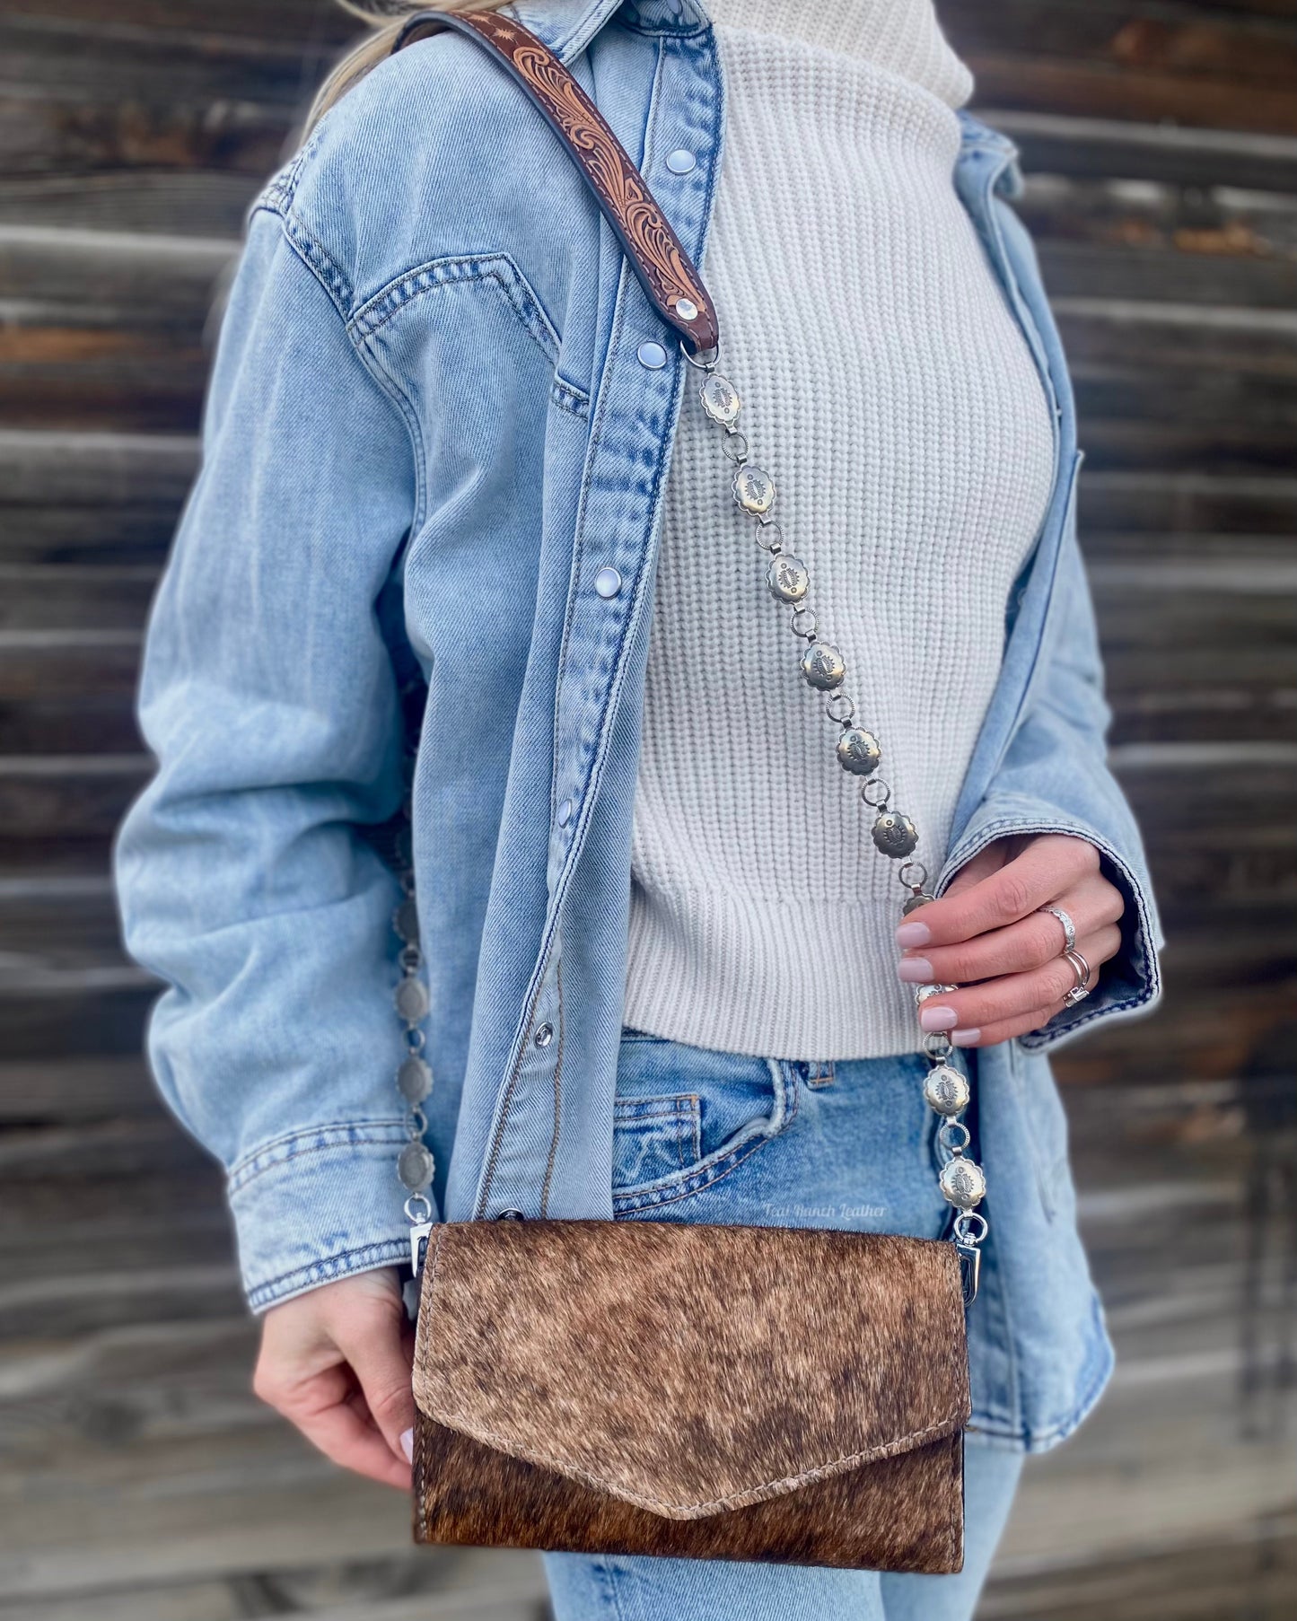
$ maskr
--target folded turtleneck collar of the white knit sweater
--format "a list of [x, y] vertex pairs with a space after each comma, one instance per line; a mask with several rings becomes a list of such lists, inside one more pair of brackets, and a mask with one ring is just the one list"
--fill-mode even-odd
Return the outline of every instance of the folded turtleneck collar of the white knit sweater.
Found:
[[872, 63], [922, 86], [948, 107], [973, 94], [973, 75], [942, 34], [932, 0], [704, 0], [720, 28], [773, 34]]

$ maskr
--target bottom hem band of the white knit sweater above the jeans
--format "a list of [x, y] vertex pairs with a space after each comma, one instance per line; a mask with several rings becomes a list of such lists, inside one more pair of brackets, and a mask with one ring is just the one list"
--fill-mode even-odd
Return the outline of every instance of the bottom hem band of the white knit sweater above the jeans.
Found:
[[893, 927], [875, 903], [636, 888], [626, 1023], [764, 1059], [918, 1052], [913, 990], [879, 976]]

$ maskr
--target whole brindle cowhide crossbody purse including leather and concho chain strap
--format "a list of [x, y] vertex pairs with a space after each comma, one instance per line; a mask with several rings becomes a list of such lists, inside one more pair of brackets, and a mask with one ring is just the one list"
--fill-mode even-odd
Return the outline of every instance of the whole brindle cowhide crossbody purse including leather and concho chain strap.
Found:
[[[817, 634], [809, 571], [749, 460], [739, 392], [717, 370], [715, 308], [647, 182], [558, 58], [503, 13], [425, 13], [400, 45], [454, 28], [514, 75], [561, 136], [699, 374], [699, 400], [756, 524], [765, 584], [804, 644], [801, 679], [841, 728], [872, 838], [898, 862], [905, 909], [932, 896], [918, 833], [877, 776], [846, 666]], [[407, 892], [409, 893], [409, 892]], [[584, 1553], [764, 1559], [882, 1571], [963, 1563], [965, 1307], [976, 1294], [986, 1183], [960, 1115], [970, 1084], [945, 1036], [924, 1037], [942, 1115], [948, 1242], [674, 1222], [431, 1222], [412, 906], [397, 914], [399, 1084], [410, 1143], [418, 1284], [415, 1538]], [[934, 987], [948, 989], [948, 987]]]

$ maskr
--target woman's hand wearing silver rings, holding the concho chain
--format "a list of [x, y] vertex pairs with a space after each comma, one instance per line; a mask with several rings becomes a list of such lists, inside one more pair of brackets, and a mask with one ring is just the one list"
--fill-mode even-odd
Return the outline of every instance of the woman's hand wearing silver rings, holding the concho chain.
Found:
[[1125, 911], [1122, 892], [1099, 870], [1098, 849], [1060, 833], [1004, 838], [897, 929], [906, 984], [966, 987], [922, 1003], [924, 1031], [948, 1031], [958, 1047], [991, 1047], [1054, 1018], [1077, 976], [1062, 958], [1062, 924], [1041, 906], [1072, 917], [1088, 984], [1096, 982], [1120, 948]]

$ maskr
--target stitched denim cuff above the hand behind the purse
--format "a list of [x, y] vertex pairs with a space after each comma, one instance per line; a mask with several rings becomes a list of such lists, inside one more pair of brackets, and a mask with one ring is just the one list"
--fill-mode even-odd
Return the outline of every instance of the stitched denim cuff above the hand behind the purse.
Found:
[[238, 1263], [255, 1313], [352, 1272], [409, 1260], [399, 1120], [293, 1131], [229, 1174]]

